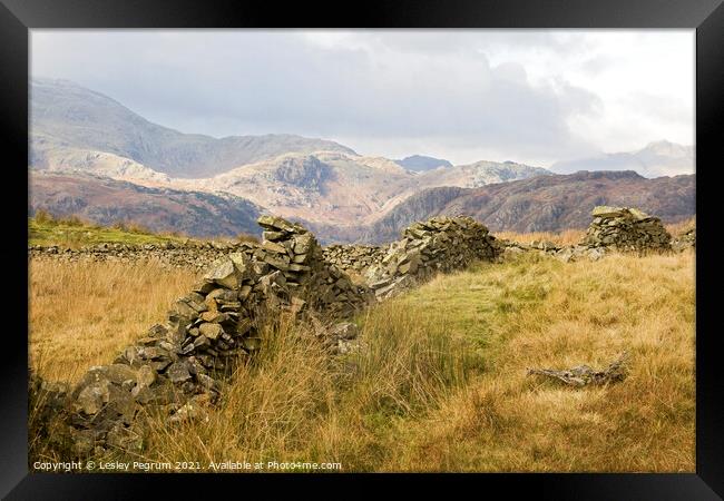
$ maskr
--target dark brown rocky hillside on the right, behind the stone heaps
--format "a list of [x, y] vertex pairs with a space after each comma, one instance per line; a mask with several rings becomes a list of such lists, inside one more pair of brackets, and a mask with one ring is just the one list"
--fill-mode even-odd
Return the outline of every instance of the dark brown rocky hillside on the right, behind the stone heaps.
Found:
[[647, 179], [634, 171], [538, 176], [474, 189], [434, 188], [398, 205], [360, 234], [362, 242], [390, 242], [413, 220], [464, 214], [492, 232], [557, 232], [585, 228], [597, 205], [640, 207], [665, 223], [696, 212], [696, 177]]

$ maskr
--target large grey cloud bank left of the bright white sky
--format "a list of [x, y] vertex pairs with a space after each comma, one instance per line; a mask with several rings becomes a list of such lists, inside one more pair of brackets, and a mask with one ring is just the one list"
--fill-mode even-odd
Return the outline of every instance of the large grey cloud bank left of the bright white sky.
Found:
[[496, 43], [569, 48], [545, 32], [371, 32], [326, 48], [301, 31], [57, 33], [33, 36], [35, 73], [75, 80], [186, 132], [429, 139], [461, 157], [488, 148], [555, 159], [591, 148], [567, 118], [599, 106], [565, 81], [534, 87], [520, 65], [491, 68], [486, 48]]

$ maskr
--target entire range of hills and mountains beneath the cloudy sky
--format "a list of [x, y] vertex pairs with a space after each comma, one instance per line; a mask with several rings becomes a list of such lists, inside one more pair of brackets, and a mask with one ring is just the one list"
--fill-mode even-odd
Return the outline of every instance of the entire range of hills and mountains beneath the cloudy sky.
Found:
[[[101, 224], [126, 219], [213, 236], [256, 233], [256, 216], [273, 213], [306, 224], [325, 242], [394, 239], [405, 222], [458, 210], [493, 229], [580, 226], [574, 203], [588, 213], [594, 199], [625, 199], [620, 194], [630, 190], [649, 210], [666, 206], [663, 196], [689, 197], [691, 204], [674, 204], [662, 215], [693, 214], [694, 176], [571, 177], [512, 161], [370, 157], [294, 135], [213, 138], [153, 124], [66, 80], [33, 78], [30, 110], [30, 214], [45, 208]], [[682, 156], [678, 145], [668, 145], [645, 148], [636, 158], [662, 165], [662, 158]], [[587, 164], [556, 168], [579, 165]]]

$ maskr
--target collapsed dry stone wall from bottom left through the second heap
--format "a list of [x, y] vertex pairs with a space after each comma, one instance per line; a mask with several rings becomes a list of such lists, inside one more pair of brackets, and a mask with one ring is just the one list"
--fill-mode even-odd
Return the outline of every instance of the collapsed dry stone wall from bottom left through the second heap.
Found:
[[[77, 453], [140, 449], [138, 418], [150, 410], [160, 411], [169, 421], [203, 414], [218, 399], [233, 363], [260, 348], [261, 326], [270, 314], [309, 312], [315, 318], [314, 313], [321, 312], [342, 320], [375, 298], [389, 297], [438, 272], [462, 268], [473, 259], [492, 259], [498, 252], [488, 229], [468, 217], [417, 223], [389, 247], [325, 250], [300, 225], [273, 216], [260, 217], [258, 224], [264, 228], [261, 244], [207, 247], [202, 261], [216, 256], [217, 250], [222, 257], [193, 291], [173, 304], [164, 323], [126, 347], [112, 364], [91, 367], [72, 389], [31, 377], [33, 400], [40, 395], [51, 414], [62, 416], [68, 424], [66, 439]], [[166, 253], [170, 250], [125, 247], [85, 250], [85, 255], [169, 259]], [[351, 262], [355, 256], [363, 256], [365, 265], [355, 267]], [[354, 284], [335, 263], [364, 272], [371, 286]], [[352, 324], [332, 328], [332, 352], [354, 348], [355, 332]]]

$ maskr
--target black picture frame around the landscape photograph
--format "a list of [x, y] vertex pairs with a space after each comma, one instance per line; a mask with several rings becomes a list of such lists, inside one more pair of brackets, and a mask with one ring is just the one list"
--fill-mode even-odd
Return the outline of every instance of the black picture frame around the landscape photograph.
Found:
[[[459, 482], [486, 495], [502, 489], [506, 497], [532, 490], [542, 499], [708, 500], [724, 495], [724, 397], [718, 372], [715, 328], [716, 294], [707, 293], [721, 276], [714, 246], [718, 219], [715, 154], [724, 136], [717, 127], [724, 111], [724, 7], [722, 0], [509, 0], [509, 1], [368, 1], [353, 6], [252, 1], [149, 0], [0, 0], [0, 140], [6, 154], [4, 208], [12, 213], [6, 228], [12, 234], [0, 246], [0, 263], [17, 272], [6, 284], [6, 311], [20, 326], [2, 335], [0, 364], [2, 443], [0, 494], [7, 499], [143, 498], [150, 484], [183, 490], [186, 497], [207, 495], [206, 477], [29, 473], [27, 456], [27, 322], [19, 312], [27, 297], [28, 41], [36, 28], [689, 28], [696, 29], [696, 473], [682, 474], [432, 474], [414, 475], [415, 485], [446, 489]], [[17, 198], [17, 199], [13, 199]], [[16, 214], [17, 212], [17, 214]], [[20, 214], [23, 212], [23, 214]], [[22, 333], [26, 336], [22, 336]], [[413, 475], [403, 475], [410, 480]], [[390, 475], [215, 475], [214, 484], [235, 483], [239, 494], [263, 483], [265, 495], [283, 482], [312, 487], [320, 479], [335, 481], [339, 493], [363, 493], [360, 480]], [[286, 483], [286, 482], [284, 482]], [[226, 485], [225, 485], [226, 487]], [[231, 485], [228, 485], [232, 488]], [[490, 489], [496, 489], [496, 491]], [[235, 489], [235, 488], [232, 488]], [[370, 493], [379, 492], [374, 487]], [[232, 492], [234, 492], [232, 490]], [[462, 491], [456, 490], [450, 492]], [[500, 492], [500, 491], [498, 491]], [[184, 497], [185, 498], [185, 497]]]

